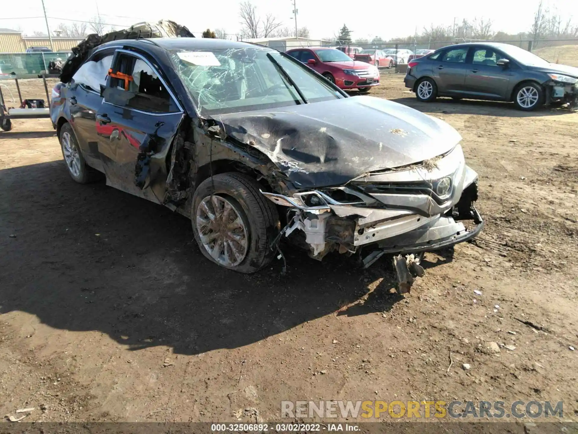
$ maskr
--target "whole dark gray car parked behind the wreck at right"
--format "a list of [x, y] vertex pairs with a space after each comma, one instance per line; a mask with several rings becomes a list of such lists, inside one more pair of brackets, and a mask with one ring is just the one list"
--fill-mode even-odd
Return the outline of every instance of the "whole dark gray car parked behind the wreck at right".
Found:
[[405, 86], [420, 101], [513, 101], [532, 111], [554, 101], [578, 104], [578, 68], [550, 63], [520, 47], [503, 43], [451, 45], [409, 62]]

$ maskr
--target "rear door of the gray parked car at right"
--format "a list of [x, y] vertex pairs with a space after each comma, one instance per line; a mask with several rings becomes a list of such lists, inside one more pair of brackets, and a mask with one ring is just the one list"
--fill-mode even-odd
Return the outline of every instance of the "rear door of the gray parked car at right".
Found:
[[440, 94], [460, 95], [465, 92], [466, 63], [469, 47], [447, 49], [432, 64], [433, 76]]

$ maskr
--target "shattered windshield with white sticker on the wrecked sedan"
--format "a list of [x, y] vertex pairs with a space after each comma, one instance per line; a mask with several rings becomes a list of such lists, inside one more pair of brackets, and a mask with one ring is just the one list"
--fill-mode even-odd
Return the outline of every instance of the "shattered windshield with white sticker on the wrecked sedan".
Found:
[[323, 78], [279, 52], [261, 48], [171, 52], [175, 71], [199, 114], [245, 112], [343, 98]]

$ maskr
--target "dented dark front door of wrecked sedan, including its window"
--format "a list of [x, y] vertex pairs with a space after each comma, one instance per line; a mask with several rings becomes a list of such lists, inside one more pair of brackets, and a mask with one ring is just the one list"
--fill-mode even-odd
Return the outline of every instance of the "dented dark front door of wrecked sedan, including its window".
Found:
[[146, 56], [117, 50], [97, 113], [109, 185], [162, 203], [167, 161], [184, 111]]

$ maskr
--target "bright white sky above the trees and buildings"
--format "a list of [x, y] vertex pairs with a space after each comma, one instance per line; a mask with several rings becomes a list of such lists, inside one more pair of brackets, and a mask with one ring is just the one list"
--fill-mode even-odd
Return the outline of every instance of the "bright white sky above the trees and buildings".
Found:
[[[539, 0], [431, 0], [327, 2], [322, 0], [297, 0], [297, 24], [306, 26], [312, 38], [333, 36], [343, 24], [353, 31], [353, 39], [384, 39], [412, 35], [429, 24], [451, 25], [454, 17], [472, 20], [474, 17], [490, 18], [494, 31], [508, 33], [528, 31], [533, 13]], [[0, 28], [20, 29], [32, 35], [34, 31], [46, 32], [41, 0], [18, 0], [2, 2]], [[292, 0], [252, 0], [262, 16], [272, 13], [284, 25], [294, 28]], [[578, 0], [546, 0], [550, 9], [557, 9], [562, 17], [574, 17], [578, 23]], [[86, 0], [62, 2], [45, 0], [50, 28], [68, 20], [86, 20], [98, 11], [107, 24], [128, 27], [139, 21], [169, 19], [186, 25], [193, 32], [206, 28], [224, 28], [235, 34], [240, 30], [239, 0], [183, 1], [183, 0], [139, 0], [138, 2], [111, 2]], [[329, 6], [334, 5], [334, 6]], [[340, 6], [338, 6], [340, 5]], [[365, 11], [365, 12], [362, 12]], [[24, 17], [41, 17], [24, 19]]]

